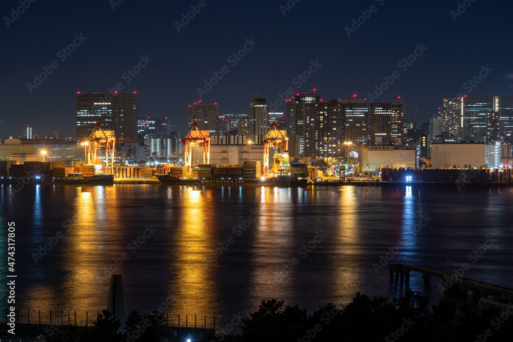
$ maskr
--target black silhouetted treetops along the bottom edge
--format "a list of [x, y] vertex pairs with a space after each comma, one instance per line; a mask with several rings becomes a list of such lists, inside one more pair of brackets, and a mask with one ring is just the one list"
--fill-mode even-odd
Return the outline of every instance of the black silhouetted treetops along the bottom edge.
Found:
[[[216, 341], [310, 342], [310, 341], [507, 341], [513, 336], [513, 312], [472, 312], [469, 304], [460, 308], [447, 300], [428, 308], [428, 298], [407, 291], [400, 299], [368, 297], [357, 293], [340, 309], [326, 304], [307, 314], [298, 306], [283, 307], [283, 301], [264, 300], [258, 311], [243, 319], [241, 335], [215, 335]], [[133, 312], [125, 334], [117, 333], [120, 323], [104, 311], [87, 331], [70, 330], [60, 342], [157, 342], [164, 341], [165, 317], [159, 312], [147, 316], [147, 328], [139, 333], [143, 317]], [[136, 333], [137, 331], [137, 333]], [[134, 338], [134, 336], [137, 336]], [[179, 342], [176, 339], [176, 342]], [[210, 340], [210, 339], [207, 339]], [[184, 339], [185, 342], [185, 339]]]

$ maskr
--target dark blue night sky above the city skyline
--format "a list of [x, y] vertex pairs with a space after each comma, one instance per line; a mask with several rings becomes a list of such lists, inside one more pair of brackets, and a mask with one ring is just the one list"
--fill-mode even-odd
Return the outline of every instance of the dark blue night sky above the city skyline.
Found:
[[[37, 135], [58, 131], [74, 136], [75, 93], [105, 92], [119, 82], [123, 91], [139, 94], [139, 116], [174, 117], [175, 129], [185, 131], [187, 105], [200, 99], [197, 89], [223, 66], [229, 72], [202, 99], [219, 103], [222, 114], [247, 112], [257, 91], [275, 102], [278, 93], [298, 87], [294, 78], [308, 70], [310, 61], [322, 66], [297, 90], [316, 88], [325, 100], [368, 97], [383, 77], [398, 71], [375, 101], [401, 96], [408, 104], [408, 121], [418, 108], [418, 123], [436, 114], [443, 97], [470, 89], [470, 95], [512, 91], [510, 2], [467, 0], [470, 6], [464, 12], [460, 7], [463, 13], [456, 16], [456, 1], [290, 0], [295, 6], [283, 15], [280, 6], [287, 6], [286, 0], [205, 0], [206, 6], [178, 32], [174, 22], [199, 0], [124, 0], [113, 10], [119, 1], [36, 0], [13, 16], [9, 27], [5, 17], [21, 5], [19, 0], [1, 3], [0, 136], [16, 136], [26, 125]], [[367, 12], [370, 17], [348, 37], [345, 27], [371, 5], [374, 12]], [[80, 42], [75, 34], [86, 39]], [[251, 38], [257, 44], [232, 66], [233, 59], [227, 58]], [[80, 43], [75, 51], [57, 54], [74, 39]], [[427, 49], [404, 70], [398, 63], [417, 44]], [[140, 56], [151, 61], [132, 79], [124, 77]], [[58, 68], [30, 92], [27, 83], [34, 83], [33, 75], [52, 61]], [[464, 86], [487, 65], [477, 87]]]

